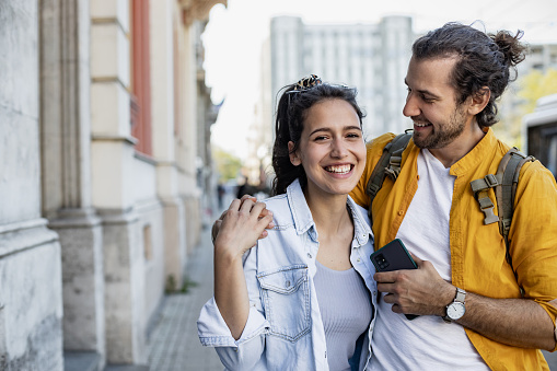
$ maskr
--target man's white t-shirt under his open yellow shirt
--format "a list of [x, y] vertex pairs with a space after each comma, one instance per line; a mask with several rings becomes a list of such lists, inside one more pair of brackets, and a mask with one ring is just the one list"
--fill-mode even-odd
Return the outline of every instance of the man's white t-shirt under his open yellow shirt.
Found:
[[[455, 177], [428, 150], [418, 155], [418, 190], [396, 236], [451, 281], [449, 218]], [[489, 370], [461, 325], [434, 315], [408, 321], [383, 298], [378, 303], [371, 370]]]

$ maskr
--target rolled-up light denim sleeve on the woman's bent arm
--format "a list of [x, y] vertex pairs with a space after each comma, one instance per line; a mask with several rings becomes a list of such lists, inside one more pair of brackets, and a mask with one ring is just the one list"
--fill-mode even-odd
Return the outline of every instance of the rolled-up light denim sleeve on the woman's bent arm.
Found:
[[251, 370], [259, 361], [265, 348], [265, 335], [269, 323], [265, 318], [258, 281], [255, 276], [256, 255], [254, 247], [244, 257], [244, 275], [250, 295], [250, 314], [241, 337], [235, 340], [230, 328], [211, 298], [201, 309], [197, 321], [197, 333], [201, 345], [216, 347], [222, 363], [230, 370]]

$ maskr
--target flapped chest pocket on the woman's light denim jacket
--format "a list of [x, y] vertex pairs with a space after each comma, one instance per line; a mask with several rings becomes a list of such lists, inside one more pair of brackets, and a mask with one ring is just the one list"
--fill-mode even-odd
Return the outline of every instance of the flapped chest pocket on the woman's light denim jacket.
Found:
[[270, 335], [297, 341], [311, 329], [307, 266], [293, 265], [257, 275]]

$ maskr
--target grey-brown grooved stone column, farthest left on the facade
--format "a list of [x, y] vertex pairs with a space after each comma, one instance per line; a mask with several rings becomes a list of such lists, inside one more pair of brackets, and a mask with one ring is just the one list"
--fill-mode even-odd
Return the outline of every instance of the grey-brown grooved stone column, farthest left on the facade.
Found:
[[102, 229], [91, 207], [86, 0], [40, 1], [43, 213], [60, 236], [63, 347], [105, 359]]

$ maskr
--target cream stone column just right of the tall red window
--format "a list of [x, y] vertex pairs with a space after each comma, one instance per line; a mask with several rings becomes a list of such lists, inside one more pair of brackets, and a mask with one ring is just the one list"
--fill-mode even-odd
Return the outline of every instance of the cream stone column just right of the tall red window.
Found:
[[[151, 89], [153, 158], [156, 160], [156, 194], [164, 206], [164, 255], [167, 282], [179, 288], [186, 265], [185, 208], [178, 194], [178, 170], [175, 146], [175, 104], [185, 104], [181, 95], [179, 73], [175, 76], [175, 63], [184, 69], [178, 37], [179, 20], [175, 1], [150, 1], [151, 13]], [[175, 95], [177, 94], [177, 96]]]

